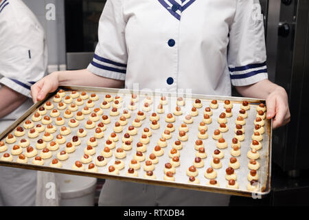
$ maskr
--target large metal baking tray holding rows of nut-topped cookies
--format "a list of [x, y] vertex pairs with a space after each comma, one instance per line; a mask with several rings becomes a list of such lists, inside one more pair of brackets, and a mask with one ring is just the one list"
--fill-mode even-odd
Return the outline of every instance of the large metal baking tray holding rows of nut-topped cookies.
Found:
[[[145, 112], [146, 113], [146, 119], [142, 121], [142, 125], [141, 127], [137, 128], [138, 129], [138, 133], [137, 135], [133, 136], [133, 149], [131, 149], [130, 151], [126, 152], [126, 157], [124, 159], [119, 159], [119, 160], [123, 160], [125, 165], [125, 168], [119, 171], [119, 175], [111, 175], [108, 174], [108, 166], [113, 165], [113, 163], [115, 162], [115, 155], [113, 154], [113, 157], [108, 157], [108, 164], [106, 166], [103, 167], [98, 167], [98, 173], [92, 173], [92, 172], [87, 172], [87, 171], [79, 171], [79, 170], [73, 170], [71, 168], [71, 166], [73, 165], [73, 163], [76, 160], [80, 160], [80, 158], [82, 157], [82, 155], [84, 154], [84, 148], [87, 147], [87, 140], [89, 139], [89, 137], [93, 136], [94, 130], [95, 129], [86, 129], [87, 130], [87, 136], [86, 137], [81, 137], [81, 141], [82, 143], [76, 147], [76, 151], [74, 153], [70, 153], [69, 154], [69, 159], [67, 159], [66, 161], [62, 161], [62, 168], [52, 168], [49, 166], [49, 163], [52, 161], [53, 158], [56, 158], [56, 153], [62, 151], [65, 148], [65, 144], [60, 144], [60, 148], [58, 149], [58, 151], [52, 151], [53, 153], [53, 157], [50, 159], [44, 159], [45, 163], [43, 166], [37, 166], [37, 165], [33, 165], [32, 162], [32, 158], [28, 158], [28, 162], [27, 164], [19, 164], [16, 163], [16, 158], [18, 156], [13, 155], [13, 162], [4, 162], [2, 160], [0, 160], [0, 166], [11, 166], [11, 167], [16, 167], [16, 168], [26, 168], [26, 169], [31, 169], [31, 170], [43, 170], [43, 171], [47, 171], [47, 172], [54, 172], [54, 173], [65, 173], [65, 174], [69, 174], [69, 175], [82, 175], [82, 176], [89, 176], [89, 177], [97, 177], [97, 178], [102, 178], [102, 179], [116, 179], [116, 180], [122, 180], [122, 181], [133, 181], [133, 182], [139, 182], [139, 183], [143, 183], [143, 184], [155, 184], [155, 185], [159, 185], [159, 186], [169, 186], [169, 187], [176, 187], [176, 188], [185, 188], [185, 189], [190, 189], [190, 190], [201, 190], [201, 191], [208, 191], [208, 192], [220, 192], [220, 193], [224, 193], [224, 194], [229, 194], [229, 195], [240, 195], [240, 196], [244, 196], [244, 197], [252, 197], [254, 196], [264, 196], [266, 194], [268, 194], [268, 192], [270, 192], [271, 190], [271, 136], [272, 136], [272, 121], [271, 120], [266, 120], [265, 119], [265, 133], [263, 135], [263, 141], [262, 141], [262, 149], [260, 149], [259, 153], [260, 153], [260, 158], [258, 159], [258, 162], [260, 162], [260, 169], [258, 170], [258, 175], [259, 175], [259, 181], [260, 181], [260, 187], [258, 191], [255, 192], [251, 192], [249, 190], [247, 190], [247, 184], [249, 183], [249, 181], [247, 180], [247, 174], [249, 173], [249, 168], [247, 166], [249, 159], [247, 158], [247, 152], [251, 149], [250, 148], [250, 143], [251, 143], [251, 135], [253, 134], [253, 120], [255, 119], [255, 115], [257, 113], [257, 111], [255, 111], [255, 108], [258, 106], [258, 104], [260, 103], [265, 103], [265, 100], [259, 100], [259, 99], [253, 99], [253, 98], [240, 98], [240, 97], [229, 97], [229, 96], [205, 96], [205, 95], [198, 95], [198, 94], [170, 94], [170, 93], [165, 93], [165, 92], [160, 92], [160, 93], [151, 93], [150, 91], [134, 91], [134, 90], [128, 90], [128, 89], [110, 89], [110, 88], [102, 88], [102, 87], [81, 87], [81, 86], [70, 86], [70, 87], [60, 87], [60, 89], [64, 89], [66, 91], [67, 94], [70, 94], [72, 90], [76, 90], [76, 91], [86, 91], [87, 94], [98, 94], [99, 96], [99, 100], [95, 101], [95, 107], [100, 107], [100, 103], [102, 103], [102, 101], [104, 100], [104, 96], [106, 94], [111, 94], [111, 96], [115, 97], [116, 95], [122, 96], [123, 97], [123, 104], [122, 107], [119, 108], [119, 112], [120, 114], [118, 116], [109, 116], [109, 111], [110, 109], [103, 109], [104, 114], [108, 115], [111, 118], [111, 123], [108, 124], [106, 131], [104, 131], [104, 137], [102, 139], [97, 139], [98, 140], [98, 146], [96, 146], [96, 153], [95, 155], [93, 155], [93, 162], [94, 159], [100, 155], [100, 152], [103, 150], [104, 148], [104, 142], [107, 140], [107, 137], [110, 133], [113, 132], [113, 126], [115, 124], [115, 122], [119, 119], [119, 116], [122, 113], [123, 109], [127, 109], [128, 104], [130, 103], [130, 97], [131, 94], [137, 94], [139, 96], [139, 108], [137, 108], [134, 111], [130, 111], [131, 112], [131, 117], [128, 118], [128, 124], [126, 126], [124, 126], [124, 129], [122, 131], [122, 133], [118, 133], [119, 136], [119, 141], [116, 142], [116, 148], [121, 147], [122, 144], [122, 140], [121, 137], [124, 135], [124, 133], [126, 133], [126, 130], [128, 128], [128, 126], [130, 124], [132, 124], [131, 122], [136, 118], [137, 115], [137, 111], [141, 110], [141, 106], [144, 103], [144, 98], [146, 98], [146, 96], [152, 96], [153, 98], [153, 103], [151, 104], [152, 106], [152, 111], [148, 111]], [[3, 131], [3, 133], [1, 133], [0, 135], [0, 140], [3, 140], [5, 142], [5, 137], [14, 131], [14, 129], [16, 128], [16, 126], [22, 126], [23, 122], [25, 122], [25, 120], [27, 119], [31, 119], [33, 113], [39, 108], [41, 107], [41, 105], [43, 106], [43, 104], [47, 101], [47, 100], [51, 100], [54, 97], [54, 95], [56, 94], [56, 92], [54, 92], [53, 94], [49, 94], [49, 96], [47, 96], [45, 98], [45, 100], [42, 100], [41, 102], [37, 102], [36, 104], [34, 104], [30, 109], [28, 109], [22, 116], [21, 118], [19, 118], [18, 120], [16, 120], [10, 127], [8, 127], [8, 129], [6, 129], [5, 131]], [[162, 114], [158, 114], [160, 116], [160, 128], [157, 130], [152, 130], [152, 137], [150, 137], [150, 143], [146, 144], [147, 145], [147, 151], [145, 152], [146, 154], [146, 159], [148, 157], [148, 155], [150, 155], [150, 153], [152, 153], [152, 149], [155, 147], [155, 145], [157, 145], [157, 140], [159, 140], [159, 138], [161, 137], [161, 134], [163, 133], [163, 131], [165, 130], [165, 126], [167, 124], [167, 122], [165, 122], [165, 115], [167, 113], [172, 113], [172, 111], [174, 110], [174, 108], [176, 107], [176, 98], [177, 97], [183, 97], [185, 100], [185, 107], [182, 107], [183, 110], [183, 115], [179, 115], [179, 116], [175, 116], [176, 121], [173, 123], [174, 127], [175, 127], [175, 131], [172, 132], [172, 138], [170, 140], [167, 140], [168, 142], [168, 146], [163, 148], [164, 150], [164, 154], [159, 157], [159, 163], [155, 165], [155, 170], [153, 171], [154, 174], [157, 176], [157, 179], [146, 179], [144, 178], [144, 173], [146, 171], [144, 171], [144, 169], [142, 168], [142, 165], [144, 164], [144, 162], [141, 162], [141, 168], [139, 170], [137, 170], [137, 172], [139, 173], [139, 177], [127, 177], [126, 176], [126, 171], [128, 170], [128, 163], [130, 162], [130, 159], [133, 159], [133, 154], [136, 152], [135, 148], [136, 148], [136, 143], [139, 142], [139, 137], [141, 137], [141, 132], [144, 129], [144, 127], [148, 127], [150, 128], [150, 120], [149, 120], [149, 115], [152, 112], [156, 112], [157, 106], [159, 104], [159, 99], [161, 98], [161, 96], [166, 96], [168, 99], [168, 105], [164, 105], [164, 109], [165, 109], [165, 113]], [[181, 124], [183, 123], [183, 118], [185, 115], [190, 113], [190, 110], [192, 108], [192, 103], [194, 102], [194, 100], [198, 98], [201, 100], [203, 107], [201, 109], [198, 109], [198, 115], [194, 118], [194, 123], [193, 124], [187, 124], [187, 126], [189, 126], [190, 131], [188, 132], [189, 135], [189, 139], [187, 140], [187, 142], [183, 142], [183, 148], [180, 151], [180, 162], [181, 165], [176, 168], [176, 173], [174, 175], [175, 177], [175, 181], [165, 181], [163, 180], [163, 168], [164, 168], [164, 164], [169, 162], [170, 157], [168, 155], [168, 153], [170, 152], [170, 150], [172, 149], [172, 143], [177, 139], [178, 136], [178, 128], [179, 126], [181, 126]], [[64, 98], [62, 98], [63, 100]], [[212, 109], [213, 111], [213, 115], [211, 116], [212, 118], [212, 122], [211, 124], [207, 124], [208, 126], [208, 130], [207, 133], [209, 135], [209, 137], [206, 140], [203, 140], [204, 144], [205, 144], [205, 151], [207, 153], [207, 158], [203, 159], [205, 165], [203, 166], [203, 168], [198, 168], [198, 176], [197, 178], [200, 180], [200, 184], [192, 184], [188, 182], [189, 177], [186, 175], [186, 170], [187, 168], [189, 168], [189, 166], [192, 166], [193, 162], [194, 162], [194, 158], [195, 158], [195, 153], [196, 150], [194, 149], [194, 143], [195, 141], [198, 139], [197, 137], [197, 133], [198, 133], [198, 123], [202, 121], [203, 119], [203, 111], [205, 109], [205, 107], [209, 107], [209, 103], [211, 102], [211, 100], [218, 100], [218, 104], [219, 107], [218, 109]], [[225, 148], [223, 151], [225, 153], [225, 157], [223, 159], [221, 159], [222, 162], [222, 168], [216, 170], [218, 173], [218, 177], [216, 178], [216, 180], [218, 181], [218, 183], [220, 184], [219, 187], [216, 186], [209, 186], [206, 183], [209, 181], [209, 179], [206, 179], [204, 177], [204, 173], [205, 170], [207, 168], [210, 167], [210, 162], [212, 157], [212, 153], [214, 152], [214, 150], [216, 149], [216, 140], [212, 139], [212, 134], [214, 133], [215, 129], [218, 129], [218, 122], [216, 121], [218, 116], [220, 115], [220, 113], [222, 113], [223, 111], [225, 111], [225, 109], [223, 108], [223, 102], [224, 100], [231, 100], [231, 102], [233, 103], [233, 116], [231, 118], [227, 118], [227, 126], [229, 127], [229, 131], [227, 133], [223, 133], [223, 137], [225, 138], [225, 140], [227, 141], [227, 143], [229, 144], [228, 148]], [[235, 170], [236, 175], [238, 177], [237, 181], [239, 184], [239, 188], [238, 189], [231, 189], [231, 188], [227, 188], [226, 184], [227, 184], [227, 180], [225, 179], [225, 168], [228, 167], [229, 164], [229, 158], [231, 157], [230, 154], [230, 150], [231, 150], [231, 139], [234, 136], [234, 129], [235, 129], [235, 120], [238, 116], [238, 111], [240, 110], [240, 104], [242, 103], [243, 100], [247, 100], [251, 106], [251, 109], [249, 111], [247, 111], [248, 113], [248, 118], [246, 119], [246, 124], [244, 125], [244, 129], [245, 129], [245, 140], [241, 143], [241, 155], [240, 157], [238, 157], [238, 160], [240, 161], [240, 168], [238, 170]], [[54, 102], [53, 102], [54, 103]], [[85, 102], [86, 103], [86, 102]], [[112, 103], [112, 102], [111, 102]], [[56, 104], [54, 103], [55, 108], [56, 108]], [[111, 104], [112, 106], [112, 104]], [[82, 108], [84, 107], [84, 104], [79, 106], [78, 111], [80, 111]], [[91, 108], [91, 110], [93, 110], [95, 107]], [[47, 114], [49, 115], [49, 112], [52, 110], [47, 110]], [[60, 111], [60, 116], [62, 116], [63, 118], [63, 112], [65, 110], [58, 110]], [[75, 115], [77, 111], [73, 112], [73, 115]], [[66, 139], [67, 141], [71, 140], [71, 137], [73, 135], [76, 135], [77, 131], [79, 128], [84, 128], [84, 124], [87, 121], [87, 117], [88, 115], [85, 115], [84, 120], [80, 121], [80, 125], [77, 128], [71, 128], [71, 134], [66, 135]], [[67, 120], [66, 120], [67, 121]], [[100, 121], [98, 121], [100, 122]], [[98, 124], [98, 122], [96, 122], [96, 124]], [[34, 124], [37, 123], [41, 123], [41, 122], [34, 122]], [[56, 126], [56, 124], [54, 124], [54, 120], [52, 123], [54, 126]], [[67, 124], [65, 124], [65, 126], [67, 126]], [[56, 137], [56, 134], [58, 134], [58, 131], [60, 129], [61, 126], [56, 126], [57, 127], [57, 132], [54, 133], [54, 137]], [[41, 138], [41, 136], [43, 135], [44, 132], [40, 133], [40, 135], [36, 138], [34, 138], [33, 140], [29, 137], [27, 137], [27, 129], [25, 129], [26, 137], [16, 137], [16, 143], [19, 142], [19, 140], [21, 140], [22, 138], [27, 138], [28, 140], [30, 140], [30, 146], [34, 146], [35, 147], [35, 143], [36, 140], [38, 140], [38, 138]], [[3, 153], [10, 153], [10, 150], [12, 149], [12, 146], [14, 146], [14, 144], [7, 144], [8, 146], [8, 150], [5, 152], [0, 153], [0, 157], [3, 155]], [[115, 152], [115, 149], [113, 148], [113, 152]], [[25, 151], [25, 150], [24, 150]], [[38, 150], [38, 155], [42, 150]], [[87, 167], [87, 164], [84, 164], [85, 167]]]

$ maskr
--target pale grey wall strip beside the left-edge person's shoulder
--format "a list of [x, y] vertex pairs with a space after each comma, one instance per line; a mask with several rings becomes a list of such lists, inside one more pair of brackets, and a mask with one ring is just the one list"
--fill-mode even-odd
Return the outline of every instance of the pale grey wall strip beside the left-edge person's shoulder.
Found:
[[47, 72], [66, 69], [64, 0], [23, 0], [41, 22], [48, 48]]

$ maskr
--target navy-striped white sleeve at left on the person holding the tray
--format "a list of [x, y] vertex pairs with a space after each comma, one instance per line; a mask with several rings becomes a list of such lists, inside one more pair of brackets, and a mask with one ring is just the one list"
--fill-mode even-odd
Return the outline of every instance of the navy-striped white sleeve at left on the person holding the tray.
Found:
[[99, 21], [99, 42], [87, 69], [98, 76], [125, 80], [128, 54], [122, 0], [106, 1]]

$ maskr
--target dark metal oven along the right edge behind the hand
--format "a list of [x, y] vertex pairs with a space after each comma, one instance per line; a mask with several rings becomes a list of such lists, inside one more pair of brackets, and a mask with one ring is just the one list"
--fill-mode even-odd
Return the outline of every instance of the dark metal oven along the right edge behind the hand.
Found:
[[273, 133], [273, 161], [291, 175], [309, 168], [309, 0], [268, 3], [268, 68], [288, 92], [291, 122]]

